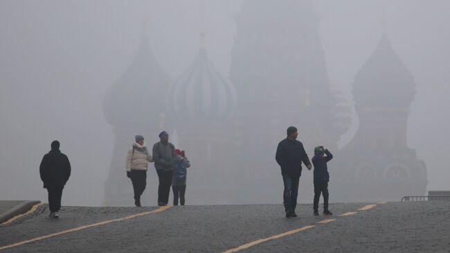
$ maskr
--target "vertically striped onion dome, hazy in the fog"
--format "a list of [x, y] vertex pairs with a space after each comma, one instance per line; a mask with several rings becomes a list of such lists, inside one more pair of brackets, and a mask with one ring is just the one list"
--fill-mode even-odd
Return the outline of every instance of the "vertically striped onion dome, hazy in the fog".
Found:
[[166, 101], [175, 121], [226, 121], [235, 110], [236, 94], [201, 48], [188, 71], [170, 87]]

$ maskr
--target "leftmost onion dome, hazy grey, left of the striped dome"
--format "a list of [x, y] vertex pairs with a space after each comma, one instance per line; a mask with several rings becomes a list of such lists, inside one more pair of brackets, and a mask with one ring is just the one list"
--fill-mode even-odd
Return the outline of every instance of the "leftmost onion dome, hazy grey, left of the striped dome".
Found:
[[105, 118], [117, 128], [158, 128], [168, 87], [169, 80], [143, 35], [136, 57], [107, 91], [103, 103]]

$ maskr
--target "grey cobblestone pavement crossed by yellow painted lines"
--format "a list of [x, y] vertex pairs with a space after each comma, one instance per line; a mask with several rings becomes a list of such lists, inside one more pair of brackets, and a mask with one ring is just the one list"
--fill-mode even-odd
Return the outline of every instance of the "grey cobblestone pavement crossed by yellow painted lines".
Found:
[[[315, 227], [242, 252], [450, 252], [450, 202], [389, 202], [358, 211], [366, 204], [330, 204], [334, 216], [317, 217], [311, 204], [299, 204], [298, 218], [289, 219], [282, 204], [171, 207], [0, 252], [224, 252], [306, 225]], [[43, 206], [0, 227], [0, 247], [155, 209], [63, 207], [53, 220]], [[350, 211], [357, 213], [339, 216]], [[336, 220], [318, 224], [325, 218]]]

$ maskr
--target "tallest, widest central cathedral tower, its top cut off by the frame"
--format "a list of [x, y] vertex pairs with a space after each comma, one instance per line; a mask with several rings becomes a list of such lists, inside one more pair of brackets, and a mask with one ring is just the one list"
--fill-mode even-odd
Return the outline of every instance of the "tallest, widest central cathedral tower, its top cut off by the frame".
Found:
[[[248, 194], [256, 196], [254, 202], [276, 202], [282, 187], [275, 150], [287, 127], [298, 128], [309, 158], [315, 145], [334, 150], [341, 134], [333, 128], [336, 98], [318, 35], [319, 17], [310, 0], [244, 0], [235, 20], [231, 80], [238, 103], [233, 150], [242, 178], [251, 179], [240, 182], [242, 200], [249, 201]], [[311, 180], [312, 173], [305, 171], [305, 180]]]

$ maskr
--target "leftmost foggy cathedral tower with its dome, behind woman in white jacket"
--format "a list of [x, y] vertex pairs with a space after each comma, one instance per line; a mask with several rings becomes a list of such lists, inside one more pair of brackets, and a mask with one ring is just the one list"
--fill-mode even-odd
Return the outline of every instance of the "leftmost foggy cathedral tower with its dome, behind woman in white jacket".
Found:
[[[165, 94], [169, 87], [166, 78], [157, 64], [145, 33], [141, 37], [136, 57], [123, 76], [111, 86], [104, 101], [104, 113], [113, 126], [114, 153], [111, 169], [105, 184], [105, 205], [133, 205], [132, 183], [125, 175], [127, 151], [134, 142], [135, 134], [143, 134], [149, 152], [159, 141], [158, 133], [165, 128]], [[149, 171], [154, 170], [149, 164]], [[157, 185], [147, 177], [147, 189], [143, 194], [143, 204], [156, 204], [156, 193], [147, 194]]]

